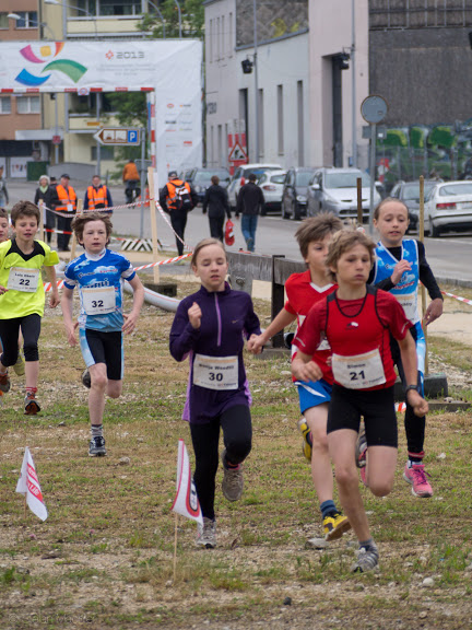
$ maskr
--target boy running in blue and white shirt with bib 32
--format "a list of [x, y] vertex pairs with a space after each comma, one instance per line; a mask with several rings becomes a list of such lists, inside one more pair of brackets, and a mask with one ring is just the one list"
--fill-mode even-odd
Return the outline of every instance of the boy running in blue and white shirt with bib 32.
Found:
[[[110, 398], [118, 398], [121, 394], [125, 370], [122, 334], [134, 330], [144, 301], [144, 289], [131, 262], [106, 247], [113, 231], [109, 217], [99, 212], [78, 214], [72, 229], [85, 252], [66, 267], [61, 305], [68, 341], [75, 346], [72, 301], [74, 287], [78, 287], [80, 347], [91, 376], [88, 455], [98, 457], [106, 455], [103, 436], [105, 394]], [[123, 314], [123, 279], [133, 288], [133, 307], [129, 315]]]

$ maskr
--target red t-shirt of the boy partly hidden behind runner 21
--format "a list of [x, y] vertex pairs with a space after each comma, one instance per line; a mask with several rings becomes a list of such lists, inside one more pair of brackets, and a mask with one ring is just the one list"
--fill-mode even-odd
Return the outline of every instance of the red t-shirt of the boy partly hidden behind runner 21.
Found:
[[[310, 308], [318, 302], [324, 301], [326, 298], [335, 291], [338, 284], [326, 284], [318, 287], [311, 282], [310, 270], [307, 269], [302, 273], [292, 273], [285, 282], [285, 291], [287, 301], [285, 303], [285, 311], [297, 316], [297, 334], [302, 328], [305, 317], [308, 315]], [[292, 347], [292, 360], [296, 354], [296, 348]], [[332, 371], [328, 365], [327, 360], [331, 355], [331, 349], [326, 339], [321, 340], [317, 349], [312, 352], [312, 360], [318, 363], [323, 373], [323, 378], [328, 383], [333, 382]], [[296, 381], [296, 378], [293, 378]]]

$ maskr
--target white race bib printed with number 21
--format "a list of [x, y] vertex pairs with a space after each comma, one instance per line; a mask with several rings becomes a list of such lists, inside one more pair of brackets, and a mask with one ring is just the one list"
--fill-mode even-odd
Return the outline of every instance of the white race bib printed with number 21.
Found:
[[334, 381], [347, 389], [368, 389], [386, 382], [378, 348], [355, 357], [332, 355]]

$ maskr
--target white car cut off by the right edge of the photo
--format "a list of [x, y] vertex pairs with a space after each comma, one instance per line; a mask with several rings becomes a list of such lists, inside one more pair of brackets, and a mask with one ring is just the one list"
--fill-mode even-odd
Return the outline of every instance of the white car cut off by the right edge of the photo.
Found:
[[467, 230], [472, 230], [472, 182], [436, 183], [425, 202], [425, 233]]

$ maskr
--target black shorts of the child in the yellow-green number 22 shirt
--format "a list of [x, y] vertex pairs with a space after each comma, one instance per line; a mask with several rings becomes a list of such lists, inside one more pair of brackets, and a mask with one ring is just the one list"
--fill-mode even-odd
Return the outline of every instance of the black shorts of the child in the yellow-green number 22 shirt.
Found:
[[4, 368], [14, 365], [17, 360], [17, 338], [20, 327], [24, 339], [25, 361], [38, 361], [37, 342], [40, 332], [40, 316], [37, 313], [13, 319], [0, 319], [0, 339], [3, 345], [3, 354], [0, 360]]

